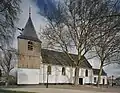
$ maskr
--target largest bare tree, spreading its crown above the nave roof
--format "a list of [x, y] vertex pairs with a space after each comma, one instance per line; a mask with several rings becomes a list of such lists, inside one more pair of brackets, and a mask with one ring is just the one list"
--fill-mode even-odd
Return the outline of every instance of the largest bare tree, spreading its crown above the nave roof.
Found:
[[[109, 9], [108, 3], [105, 0], [65, 0], [56, 4], [56, 9], [50, 14], [45, 8], [43, 16], [47, 18], [48, 25], [43, 34], [49, 40], [50, 48], [60, 49], [74, 62], [75, 85], [79, 80], [82, 56], [93, 47], [91, 43], [95, 40], [93, 35], [104, 28], [104, 25], [100, 24], [103, 22], [107, 24], [110, 21], [103, 18], [107, 19], [117, 14], [111, 15], [114, 11]], [[111, 27], [111, 30], [114, 28]], [[77, 51], [77, 60], [69, 54], [71, 49]]]

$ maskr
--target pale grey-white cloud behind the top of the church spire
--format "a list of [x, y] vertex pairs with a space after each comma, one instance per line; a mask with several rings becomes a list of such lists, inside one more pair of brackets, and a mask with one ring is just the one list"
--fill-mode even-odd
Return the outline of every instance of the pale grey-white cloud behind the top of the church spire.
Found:
[[[42, 1], [42, 0], [40, 0]], [[44, 18], [38, 14], [39, 8], [36, 6], [35, 0], [22, 0], [21, 9], [22, 13], [20, 15], [20, 20], [18, 22], [18, 27], [23, 28], [29, 17], [29, 7], [31, 6], [31, 17], [36, 31], [40, 30], [40, 25], [45, 25]]]

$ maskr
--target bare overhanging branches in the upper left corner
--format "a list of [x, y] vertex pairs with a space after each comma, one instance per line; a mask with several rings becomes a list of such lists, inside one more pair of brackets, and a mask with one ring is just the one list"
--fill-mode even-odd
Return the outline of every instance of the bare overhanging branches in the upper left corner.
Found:
[[0, 46], [10, 44], [20, 13], [21, 0], [0, 0]]

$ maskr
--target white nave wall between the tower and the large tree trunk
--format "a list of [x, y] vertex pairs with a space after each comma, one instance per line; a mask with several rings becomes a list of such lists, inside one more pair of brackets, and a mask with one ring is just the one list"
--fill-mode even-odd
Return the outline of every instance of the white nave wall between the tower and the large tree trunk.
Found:
[[[40, 67], [40, 83], [47, 83], [47, 66]], [[72, 68], [65, 67], [66, 75], [62, 75], [62, 66], [51, 65], [51, 74], [48, 75], [48, 83], [72, 83]]]

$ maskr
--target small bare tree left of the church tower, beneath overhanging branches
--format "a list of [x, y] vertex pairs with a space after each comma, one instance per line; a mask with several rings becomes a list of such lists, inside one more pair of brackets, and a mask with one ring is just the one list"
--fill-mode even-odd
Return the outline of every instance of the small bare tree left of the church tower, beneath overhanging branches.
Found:
[[1, 51], [1, 56], [0, 56], [0, 67], [5, 73], [6, 77], [6, 85], [9, 84], [9, 77], [10, 77], [10, 72], [11, 70], [15, 67], [16, 64], [16, 50], [11, 48], [11, 49], [3, 49]]

